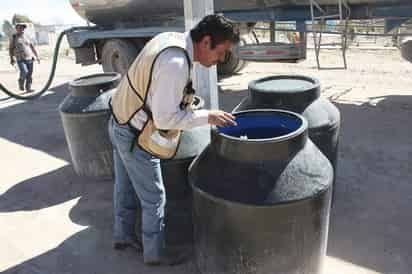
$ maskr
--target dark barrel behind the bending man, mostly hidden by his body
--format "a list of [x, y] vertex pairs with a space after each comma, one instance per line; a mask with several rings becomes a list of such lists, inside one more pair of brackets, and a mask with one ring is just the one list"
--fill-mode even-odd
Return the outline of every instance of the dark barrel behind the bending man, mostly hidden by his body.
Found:
[[[203, 100], [196, 97], [196, 107]], [[193, 159], [210, 143], [210, 126], [182, 131], [176, 156], [162, 160], [162, 177], [166, 189], [165, 232], [166, 243], [172, 246], [193, 244], [192, 189], [188, 181], [188, 170]], [[138, 205], [139, 206], [139, 205]], [[141, 236], [141, 208], [137, 210], [137, 235]]]

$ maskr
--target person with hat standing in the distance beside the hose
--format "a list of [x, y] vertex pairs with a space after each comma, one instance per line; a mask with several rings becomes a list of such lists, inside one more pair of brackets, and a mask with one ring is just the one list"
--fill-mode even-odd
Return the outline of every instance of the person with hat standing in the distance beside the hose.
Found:
[[26, 27], [26, 24], [16, 24], [16, 33], [10, 39], [9, 54], [10, 64], [14, 66], [17, 62], [20, 70], [18, 80], [20, 90], [26, 89], [27, 92], [32, 92], [33, 61], [37, 59], [40, 63], [40, 58], [33, 43], [24, 34]]

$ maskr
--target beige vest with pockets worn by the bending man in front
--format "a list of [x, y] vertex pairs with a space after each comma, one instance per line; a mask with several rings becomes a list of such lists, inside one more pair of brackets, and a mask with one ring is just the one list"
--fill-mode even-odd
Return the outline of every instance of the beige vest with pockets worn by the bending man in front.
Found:
[[[186, 41], [183, 33], [166, 32], [154, 37], [146, 44], [130, 66], [127, 75], [123, 77], [111, 100], [113, 116], [119, 124], [129, 123], [130, 119], [140, 110], [147, 114], [148, 119], [143, 128], [136, 132], [135, 143], [160, 159], [174, 157], [179, 145], [181, 131], [175, 129], [160, 130], [156, 128], [153, 122], [151, 111], [146, 105], [153, 65], [164, 50], [179, 48], [184, 51], [190, 70], [191, 62], [185, 45]], [[188, 75], [190, 78], [190, 71]], [[188, 98], [192, 100], [194, 93], [194, 90], [191, 89], [190, 79], [188, 79], [188, 85], [182, 93], [184, 94], [182, 104], [191, 104], [191, 102], [187, 102]]]

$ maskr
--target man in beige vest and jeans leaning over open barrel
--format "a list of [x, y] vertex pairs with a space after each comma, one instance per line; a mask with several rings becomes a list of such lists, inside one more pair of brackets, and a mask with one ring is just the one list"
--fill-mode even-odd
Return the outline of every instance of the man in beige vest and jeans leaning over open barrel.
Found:
[[[192, 108], [192, 68], [193, 63], [211, 67], [223, 62], [238, 42], [233, 24], [221, 15], [204, 17], [186, 33], [161, 33], [142, 49], [112, 97], [113, 247], [143, 248], [147, 265], [178, 264], [187, 258], [187, 250], [170, 252], [165, 247], [166, 190], [160, 159], [174, 156], [181, 130], [236, 124], [230, 113]], [[137, 203], [143, 246], [135, 235]]]

